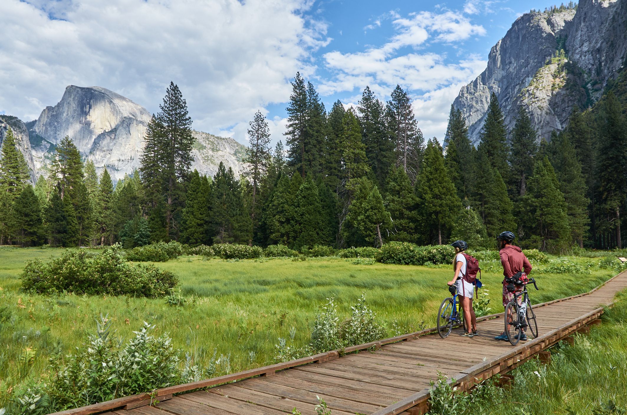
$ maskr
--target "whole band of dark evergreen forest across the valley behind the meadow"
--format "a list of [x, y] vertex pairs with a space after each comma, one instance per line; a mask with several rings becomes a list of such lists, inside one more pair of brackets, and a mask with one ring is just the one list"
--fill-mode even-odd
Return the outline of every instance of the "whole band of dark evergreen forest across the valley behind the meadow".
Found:
[[[622, 248], [627, 208], [627, 75], [540, 140], [524, 109], [507, 130], [494, 94], [481, 141], [451, 105], [443, 145], [423, 137], [411, 96], [325, 108], [297, 73], [285, 137], [270, 147], [261, 112], [248, 130], [245, 173], [190, 171], [192, 120], [174, 83], [152, 116], [139, 171], [113, 183], [71, 137], [34, 186], [9, 130], [0, 159], [0, 244], [134, 248], [157, 241], [379, 247], [388, 241], [495, 246], [510, 230], [524, 248]], [[285, 144], [283, 144], [285, 143]], [[622, 236], [621, 236], [622, 235]]]

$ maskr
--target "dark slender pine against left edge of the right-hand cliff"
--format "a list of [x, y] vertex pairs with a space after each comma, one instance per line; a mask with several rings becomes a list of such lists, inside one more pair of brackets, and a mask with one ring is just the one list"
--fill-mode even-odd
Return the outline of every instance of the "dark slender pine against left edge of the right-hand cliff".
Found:
[[465, 206], [470, 203], [473, 169], [475, 164], [475, 147], [468, 139], [468, 127], [460, 110], [451, 105], [451, 112], [446, 127], [446, 155], [444, 164], [450, 174], [451, 181], [457, 189], [457, 196]]

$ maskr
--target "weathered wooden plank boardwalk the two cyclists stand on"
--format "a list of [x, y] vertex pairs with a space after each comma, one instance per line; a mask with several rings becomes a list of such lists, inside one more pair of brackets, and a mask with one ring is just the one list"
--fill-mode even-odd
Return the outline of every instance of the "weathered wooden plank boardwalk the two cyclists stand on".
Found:
[[[438, 372], [452, 379], [460, 389], [468, 389], [497, 373], [505, 374], [574, 332], [585, 332], [587, 325], [598, 322], [603, 313], [600, 306], [611, 303], [614, 295], [624, 288], [627, 288], [627, 271], [590, 293], [534, 306], [540, 336], [515, 347], [493, 340], [503, 330], [502, 315], [493, 315], [478, 323], [480, 335], [473, 339], [456, 335], [459, 330], [454, 330], [447, 339], [425, 334], [429, 330], [424, 330], [361, 345], [352, 348], [361, 350], [359, 353], [342, 357], [329, 352], [297, 362], [160, 389], [157, 392], [160, 402], [155, 406], [147, 405], [146, 395], [138, 395], [59, 413], [90, 414], [112, 409], [107, 413], [279, 415], [292, 413], [296, 407], [303, 415], [310, 415], [315, 414], [318, 395], [325, 399], [333, 415], [423, 414], [427, 409], [429, 381], [436, 379]], [[372, 350], [372, 346], [377, 350]], [[460, 357], [456, 351], [461, 348], [471, 349], [473, 354]], [[300, 365], [292, 367], [297, 364]], [[249, 379], [172, 397], [172, 393], [244, 377]]]

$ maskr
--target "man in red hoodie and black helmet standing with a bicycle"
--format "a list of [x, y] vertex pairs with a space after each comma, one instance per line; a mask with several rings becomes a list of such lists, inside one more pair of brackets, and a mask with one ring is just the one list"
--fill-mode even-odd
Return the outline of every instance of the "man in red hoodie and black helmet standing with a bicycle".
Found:
[[[502, 232], [497, 236], [498, 253], [501, 257], [503, 276], [505, 276], [505, 278], [512, 278], [512, 276], [520, 271], [523, 271], [527, 275], [531, 272], [531, 264], [529, 263], [527, 256], [522, 253], [522, 250], [520, 250], [518, 246], [512, 245], [514, 238], [514, 234], [510, 231]], [[514, 292], [510, 293], [507, 290], [505, 279], [503, 279], [503, 307], [506, 307], [508, 302], [514, 300], [515, 294], [522, 292], [522, 285], [514, 286]], [[518, 298], [518, 303], [519, 305], [522, 303], [522, 297]], [[508, 341], [507, 334], [505, 334], [505, 332], [501, 333], [494, 339]], [[527, 335], [523, 333], [520, 340], [527, 340]]]

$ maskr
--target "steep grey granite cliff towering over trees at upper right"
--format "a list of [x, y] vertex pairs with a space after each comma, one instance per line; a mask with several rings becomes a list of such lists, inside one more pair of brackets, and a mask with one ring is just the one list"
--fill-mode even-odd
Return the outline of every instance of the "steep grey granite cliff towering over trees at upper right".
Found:
[[623, 65], [626, 19], [627, 0], [581, 0], [576, 10], [520, 16], [490, 50], [485, 71], [453, 102], [473, 144], [480, 141], [492, 92], [508, 129], [521, 106], [539, 137], [564, 129], [572, 108], [593, 103]]

